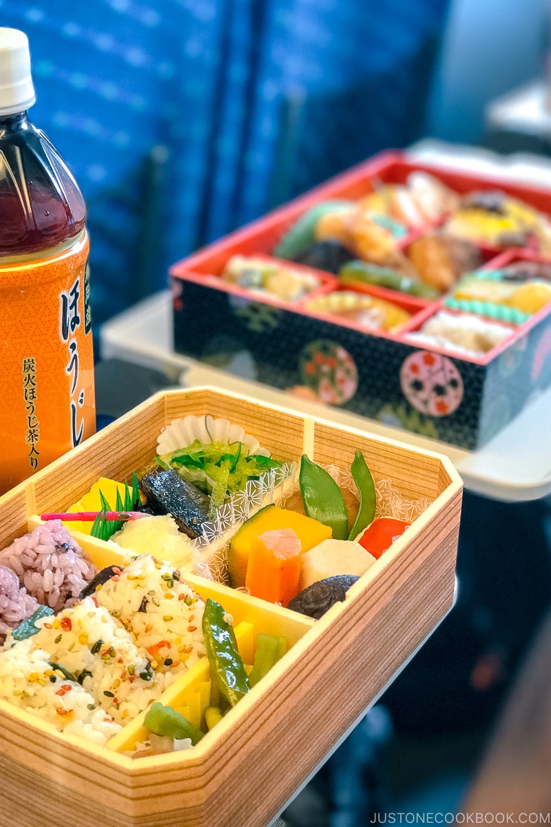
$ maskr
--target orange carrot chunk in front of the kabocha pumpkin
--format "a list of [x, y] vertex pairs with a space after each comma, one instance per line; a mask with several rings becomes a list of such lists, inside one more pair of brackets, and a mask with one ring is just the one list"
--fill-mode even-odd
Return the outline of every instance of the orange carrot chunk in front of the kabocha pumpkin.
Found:
[[255, 537], [245, 577], [250, 594], [286, 606], [298, 594], [301, 552], [301, 541], [292, 528], [276, 528]]

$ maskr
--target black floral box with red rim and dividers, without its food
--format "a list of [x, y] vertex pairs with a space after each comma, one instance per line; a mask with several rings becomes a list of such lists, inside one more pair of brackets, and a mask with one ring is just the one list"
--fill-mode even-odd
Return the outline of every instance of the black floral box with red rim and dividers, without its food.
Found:
[[[551, 193], [544, 190], [412, 165], [400, 153], [382, 153], [173, 265], [175, 349], [230, 371], [239, 364], [235, 357], [245, 352], [255, 379], [289, 394], [320, 399], [468, 449], [482, 446], [551, 381], [551, 303], [530, 316], [516, 313], [513, 318], [509, 310], [509, 315], [496, 317], [495, 308], [488, 310], [480, 302], [454, 304], [451, 293], [411, 299], [416, 304], [411, 319], [389, 332], [308, 309], [307, 297], [289, 303], [221, 279], [231, 256], [273, 255], [297, 218], [317, 204], [361, 198], [373, 191], [373, 181], [400, 185], [418, 171], [435, 175], [458, 194], [506, 190], [507, 198], [521, 199], [544, 220], [551, 215]], [[525, 241], [524, 248], [515, 250], [517, 258], [535, 256], [551, 262], [546, 258], [546, 237], [539, 253], [530, 251], [530, 246], [538, 249], [530, 234], [520, 238], [510, 233], [503, 238], [504, 246]], [[407, 250], [410, 239], [401, 241], [402, 250]], [[480, 275], [500, 270], [503, 256], [506, 261], [513, 256], [512, 250], [504, 252], [487, 241], [480, 241], [479, 248]], [[328, 274], [319, 273], [325, 276], [318, 290], [323, 293], [331, 288]], [[337, 275], [330, 275], [330, 280], [334, 289], [343, 288]], [[393, 291], [363, 285], [365, 292], [388, 298]], [[474, 354], [463, 347], [443, 346], [441, 338], [424, 336], [425, 323], [433, 324], [433, 318], [440, 322], [445, 317], [453, 327], [470, 308], [499, 333], [485, 350]], [[471, 322], [470, 313], [465, 321]], [[477, 327], [476, 319], [473, 324]], [[469, 335], [474, 336], [473, 331]]]

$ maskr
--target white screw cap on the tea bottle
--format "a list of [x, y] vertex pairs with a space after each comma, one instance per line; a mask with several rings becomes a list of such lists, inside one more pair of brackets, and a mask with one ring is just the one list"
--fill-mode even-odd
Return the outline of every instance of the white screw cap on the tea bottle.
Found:
[[29, 39], [24, 31], [0, 26], [0, 116], [23, 112], [35, 101]]

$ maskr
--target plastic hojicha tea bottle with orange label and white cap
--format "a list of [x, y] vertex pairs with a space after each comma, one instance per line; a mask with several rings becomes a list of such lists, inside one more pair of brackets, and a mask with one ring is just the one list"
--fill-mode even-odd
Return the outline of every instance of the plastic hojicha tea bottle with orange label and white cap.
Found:
[[96, 427], [86, 206], [35, 100], [27, 37], [0, 28], [0, 494]]

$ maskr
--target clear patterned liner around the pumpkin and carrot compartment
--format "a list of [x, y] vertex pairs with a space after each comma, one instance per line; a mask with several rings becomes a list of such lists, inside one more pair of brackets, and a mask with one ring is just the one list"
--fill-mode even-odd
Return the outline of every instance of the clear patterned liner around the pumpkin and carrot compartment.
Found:
[[[357, 493], [350, 471], [333, 465], [321, 467], [330, 473], [340, 488]], [[193, 545], [202, 553], [214, 580], [227, 583], [228, 548], [235, 530], [264, 505], [275, 503], [284, 508], [287, 499], [299, 488], [298, 471], [298, 464], [289, 462], [267, 471], [259, 480], [249, 480], [245, 490], [218, 509], [216, 519], [203, 525], [202, 536], [194, 540]], [[428, 497], [414, 500], [404, 496], [386, 477], [373, 477], [373, 481], [377, 495], [376, 517], [394, 517], [412, 523], [432, 502]]]

